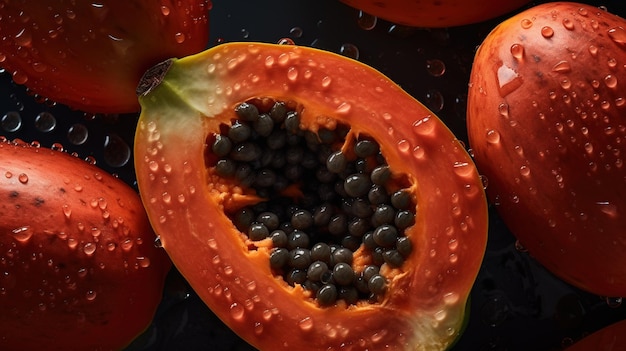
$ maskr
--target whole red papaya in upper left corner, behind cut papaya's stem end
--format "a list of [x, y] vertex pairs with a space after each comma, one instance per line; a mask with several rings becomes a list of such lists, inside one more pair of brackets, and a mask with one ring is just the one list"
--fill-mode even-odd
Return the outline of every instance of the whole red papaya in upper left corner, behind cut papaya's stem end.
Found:
[[206, 47], [208, 11], [206, 0], [3, 0], [0, 67], [52, 101], [135, 112], [145, 70]]

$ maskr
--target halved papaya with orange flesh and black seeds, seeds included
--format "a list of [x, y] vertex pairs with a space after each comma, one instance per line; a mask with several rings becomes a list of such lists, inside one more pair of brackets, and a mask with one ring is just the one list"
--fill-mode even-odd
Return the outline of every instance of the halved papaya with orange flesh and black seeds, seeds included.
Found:
[[221, 44], [143, 83], [148, 216], [237, 334], [261, 350], [453, 344], [487, 205], [431, 111], [371, 67], [293, 45]]

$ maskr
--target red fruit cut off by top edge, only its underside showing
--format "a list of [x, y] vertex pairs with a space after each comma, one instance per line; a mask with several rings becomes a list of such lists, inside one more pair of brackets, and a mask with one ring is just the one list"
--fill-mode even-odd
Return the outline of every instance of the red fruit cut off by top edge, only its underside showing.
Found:
[[341, 0], [393, 23], [414, 27], [451, 27], [485, 21], [522, 7], [529, 0]]

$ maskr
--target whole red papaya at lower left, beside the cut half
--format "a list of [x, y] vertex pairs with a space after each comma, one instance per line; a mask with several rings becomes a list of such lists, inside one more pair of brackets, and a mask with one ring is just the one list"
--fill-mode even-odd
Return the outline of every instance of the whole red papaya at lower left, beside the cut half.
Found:
[[171, 261], [139, 196], [94, 165], [0, 142], [0, 349], [121, 350]]

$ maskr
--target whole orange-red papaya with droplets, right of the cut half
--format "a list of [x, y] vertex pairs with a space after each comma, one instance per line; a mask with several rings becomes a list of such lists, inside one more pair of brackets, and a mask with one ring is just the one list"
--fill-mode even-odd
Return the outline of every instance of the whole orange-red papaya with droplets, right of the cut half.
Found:
[[626, 21], [547, 3], [491, 32], [468, 97], [470, 146], [520, 243], [565, 281], [626, 296]]

